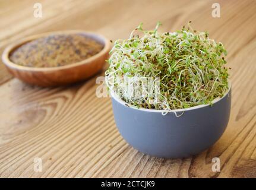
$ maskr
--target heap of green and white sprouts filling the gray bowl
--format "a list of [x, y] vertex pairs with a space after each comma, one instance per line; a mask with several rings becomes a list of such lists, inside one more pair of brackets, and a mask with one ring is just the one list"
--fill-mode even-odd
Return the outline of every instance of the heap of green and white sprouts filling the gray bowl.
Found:
[[[129, 105], [138, 108], [173, 110], [210, 104], [228, 90], [228, 73], [222, 43], [208, 37], [207, 32], [191, 27], [175, 32], [144, 31], [142, 24], [135, 30], [143, 33], [129, 39], [116, 40], [110, 51], [106, 82], [117, 89]], [[189, 26], [189, 24], [188, 24]], [[125, 77], [159, 77], [159, 100], [152, 97], [125, 97]], [[121, 78], [121, 80], [112, 80]], [[123, 80], [122, 80], [123, 79]]]

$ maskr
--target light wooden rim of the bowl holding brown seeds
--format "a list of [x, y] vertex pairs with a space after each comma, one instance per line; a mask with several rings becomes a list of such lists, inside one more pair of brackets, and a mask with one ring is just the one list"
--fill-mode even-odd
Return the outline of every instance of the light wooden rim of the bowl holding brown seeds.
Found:
[[[40, 37], [46, 37], [49, 35], [56, 35], [56, 34], [85, 34], [88, 37], [92, 37], [94, 39], [99, 39], [100, 41], [103, 42], [103, 49], [100, 50], [99, 53], [96, 55], [91, 56], [90, 58], [84, 59], [79, 62], [74, 62], [72, 64], [68, 65], [62, 65], [62, 66], [52, 66], [52, 67], [33, 67], [33, 66], [23, 66], [23, 65], [18, 65], [15, 64], [10, 60], [10, 53], [18, 48], [19, 46], [31, 42], [32, 40], [39, 39]], [[2, 53], [2, 62], [12, 68], [12, 69], [18, 69], [18, 70], [23, 70], [23, 71], [35, 71], [35, 72], [41, 72], [41, 71], [59, 71], [61, 69], [69, 69], [69, 68], [74, 68], [76, 66], [81, 66], [84, 64], [90, 64], [91, 61], [94, 59], [100, 58], [101, 56], [105, 55], [110, 50], [110, 41], [106, 39], [106, 37], [102, 36], [101, 34], [94, 33], [92, 31], [86, 31], [86, 30], [63, 30], [63, 31], [49, 31], [46, 33], [41, 33], [41, 34], [35, 34], [32, 36], [24, 37], [17, 42], [11, 43], [11, 45], [5, 47], [4, 52]]]

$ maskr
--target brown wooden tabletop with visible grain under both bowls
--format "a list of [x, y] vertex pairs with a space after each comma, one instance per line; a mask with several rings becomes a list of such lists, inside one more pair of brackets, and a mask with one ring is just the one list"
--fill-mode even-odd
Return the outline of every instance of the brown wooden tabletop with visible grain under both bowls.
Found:
[[[109, 39], [126, 38], [140, 22], [160, 31], [179, 30], [189, 20], [197, 30], [223, 42], [229, 54], [232, 111], [222, 138], [207, 151], [187, 159], [157, 159], [139, 153], [119, 135], [109, 98], [97, 98], [96, 77], [58, 88], [22, 83], [0, 64], [1, 177], [256, 177], [256, 1], [84, 1], [42, 3], [43, 17], [33, 17], [38, 1], [0, 1], [1, 53], [9, 43], [46, 31], [82, 29]], [[220, 4], [220, 18], [211, 5]], [[42, 172], [34, 172], [34, 158]], [[213, 157], [220, 172], [213, 172]]]

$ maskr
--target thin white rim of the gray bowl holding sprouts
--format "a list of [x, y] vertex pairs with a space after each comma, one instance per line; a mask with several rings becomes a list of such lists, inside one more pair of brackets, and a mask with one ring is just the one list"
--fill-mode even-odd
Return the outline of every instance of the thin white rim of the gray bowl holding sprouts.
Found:
[[[230, 80], [227, 81], [228, 82], [228, 86], [229, 88], [227, 89], [226, 93], [222, 96], [222, 97], [216, 97], [216, 99], [214, 99], [212, 101], [213, 105], [217, 102], [219, 102], [220, 100], [224, 99], [226, 96], [229, 96], [229, 92], [231, 90], [231, 82]], [[128, 104], [127, 102], [124, 102], [124, 100], [120, 99], [112, 90], [109, 91], [110, 96], [116, 100], [116, 102], [120, 103], [121, 105], [128, 107], [128, 108], [132, 108], [135, 110], [139, 110], [139, 111], [144, 111], [144, 112], [153, 112], [153, 113], [176, 113], [176, 112], [186, 112], [189, 110], [195, 110], [195, 109], [200, 109], [203, 107], [207, 107], [210, 106], [210, 104], [207, 105], [198, 105], [198, 106], [192, 106], [192, 107], [188, 107], [188, 108], [182, 108], [182, 109], [172, 109], [172, 110], [160, 110], [160, 109], [147, 109], [147, 108], [140, 108], [138, 109], [135, 106], [132, 106], [130, 104]], [[128, 105], [128, 106], [127, 106]]]

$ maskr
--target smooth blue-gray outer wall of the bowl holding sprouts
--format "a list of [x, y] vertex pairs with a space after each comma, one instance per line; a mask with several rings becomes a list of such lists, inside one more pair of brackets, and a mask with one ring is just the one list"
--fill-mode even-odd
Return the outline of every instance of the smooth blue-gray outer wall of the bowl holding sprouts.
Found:
[[[184, 158], [216, 143], [229, 121], [231, 88], [213, 106], [163, 116], [122, 105], [112, 98], [116, 126], [128, 144], [151, 156]], [[178, 113], [178, 115], [181, 112]]]

